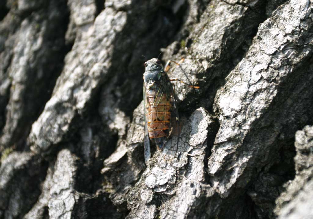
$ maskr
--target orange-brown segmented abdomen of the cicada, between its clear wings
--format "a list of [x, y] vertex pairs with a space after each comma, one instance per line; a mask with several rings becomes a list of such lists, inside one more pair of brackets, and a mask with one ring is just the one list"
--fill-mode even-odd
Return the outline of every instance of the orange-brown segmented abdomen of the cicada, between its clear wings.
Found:
[[166, 94], [155, 96], [156, 90], [147, 92], [146, 118], [150, 138], [167, 136], [171, 120], [171, 102], [167, 100]]

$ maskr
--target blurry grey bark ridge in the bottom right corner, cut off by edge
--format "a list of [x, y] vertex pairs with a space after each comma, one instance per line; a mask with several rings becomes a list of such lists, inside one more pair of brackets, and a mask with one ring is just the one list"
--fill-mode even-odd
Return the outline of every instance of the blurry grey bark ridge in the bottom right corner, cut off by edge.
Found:
[[276, 200], [279, 218], [312, 218], [313, 127], [305, 126], [295, 135], [295, 178], [285, 183], [286, 191]]

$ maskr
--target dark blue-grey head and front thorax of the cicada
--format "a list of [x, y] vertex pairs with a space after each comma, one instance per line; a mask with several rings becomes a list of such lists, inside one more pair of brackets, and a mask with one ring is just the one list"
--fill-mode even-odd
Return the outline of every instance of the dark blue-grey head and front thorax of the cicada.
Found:
[[157, 82], [161, 79], [163, 73], [163, 65], [161, 60], [152, 58], [145, 62], [146, 71], [143, 74], [145, 82]]

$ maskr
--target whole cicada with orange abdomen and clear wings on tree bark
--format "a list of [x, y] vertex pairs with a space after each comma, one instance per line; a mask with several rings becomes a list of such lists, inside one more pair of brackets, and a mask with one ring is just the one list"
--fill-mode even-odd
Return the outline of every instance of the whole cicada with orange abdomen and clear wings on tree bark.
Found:
[[[161, 60], [157, 58], [152, 58], [145, 62], [143, 100], [145, 117], [144, 155], [146, 165], [148, 165], [151, 157], [150, 139], [155, 142], [159, 150], [166, 150], [166, 160], [173, 159], [177, 152], [180, 130], [179, 116], [177, 97], [171, 81], [185, 82], [177, 78], [170, 79], [168, 77], [167, 72], [170, 69], [171, 62], [174, 61], [168, 61], [164, 69]], [[172, 136], [173, 133], [176, 133], [175, 138]]]

